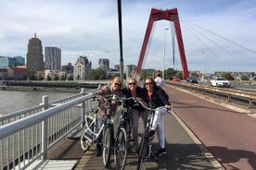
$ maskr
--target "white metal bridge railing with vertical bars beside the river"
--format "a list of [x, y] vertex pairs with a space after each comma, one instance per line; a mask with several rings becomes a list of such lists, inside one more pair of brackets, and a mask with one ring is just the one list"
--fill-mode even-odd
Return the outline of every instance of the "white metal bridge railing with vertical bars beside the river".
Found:
[[[97, 91], [97, 90], [94, 90]], [[26, 169], [46, 159], [48, 150], [83, 123], [94, 91], [84, 91], [0, 117], [0, 169]]]

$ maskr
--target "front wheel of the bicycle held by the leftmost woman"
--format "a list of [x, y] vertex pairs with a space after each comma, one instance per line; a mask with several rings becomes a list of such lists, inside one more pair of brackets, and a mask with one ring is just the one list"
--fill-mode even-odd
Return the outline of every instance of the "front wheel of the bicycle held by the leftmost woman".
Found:
[[112, 146], [112, 132], [107, 126], [103, 131], [103, 164], [105, 167], [108, 167], [110, 162], [111, 155], [111, 146]]

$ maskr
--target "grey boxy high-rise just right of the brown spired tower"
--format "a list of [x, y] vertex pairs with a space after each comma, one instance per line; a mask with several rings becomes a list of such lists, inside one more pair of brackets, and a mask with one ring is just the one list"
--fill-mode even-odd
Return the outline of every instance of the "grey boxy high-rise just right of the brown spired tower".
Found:
[[61, 50], [57, 47], [45, 47], [45, 69], [60, 70]]

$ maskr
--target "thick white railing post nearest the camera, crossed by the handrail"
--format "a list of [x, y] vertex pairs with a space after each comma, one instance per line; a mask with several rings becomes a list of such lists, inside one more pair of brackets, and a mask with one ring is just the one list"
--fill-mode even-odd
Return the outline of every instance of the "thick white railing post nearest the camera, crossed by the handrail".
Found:
[[[47, 110], [49, 107], [49, 99], [47, 95], [43, 96], [43, 104], [45, 105], [44, 110]], [[45, 160], [47, 157], [47, 136], [48, 136], [48, 120], [45, 119], [42, 122], [42, 159]]]

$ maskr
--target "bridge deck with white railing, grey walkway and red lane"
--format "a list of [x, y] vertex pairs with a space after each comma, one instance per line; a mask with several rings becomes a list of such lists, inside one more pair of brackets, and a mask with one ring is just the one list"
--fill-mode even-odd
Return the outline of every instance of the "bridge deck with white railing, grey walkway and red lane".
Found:
[[[229, 109], [212, 103], [198, 91], [187, 93], [174, 85], [167, 85], [165, 90], [174, 111], [165, 117], [168, 154], [158, 162], [148, 160], [144, 168], [256, 168], [256, 120], [245, 115], [249, 110], [254, 115], [254, 107], [238, 111], [235, 106]], [[102, 158], [95, 156], [94, 148], [83, 153], [79, 143], [79, 129], [83, 115], [90, 112], [93, 92], [82, 91], [55, 102], [48, 102], [45, 96], [40, 105], [0, 117], [0, 169], [46, 169], [52, 165], [59, 169], [103, 169]], [[158, 146], [155, 139], [154, 148]], [[129, 154], [126, 169], [134, 169], [136, 158]]]

